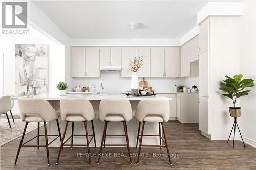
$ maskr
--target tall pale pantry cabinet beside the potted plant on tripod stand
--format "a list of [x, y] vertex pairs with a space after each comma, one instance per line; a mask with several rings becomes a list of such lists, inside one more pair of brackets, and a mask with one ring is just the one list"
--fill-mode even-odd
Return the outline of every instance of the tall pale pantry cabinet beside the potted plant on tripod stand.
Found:
[[225, 140], [233, 119], [232, 102], [222, 96], [225, 75], [239, 73], [239, 17], [208, 17], [199, 31], [199, 130], [213, 140]]

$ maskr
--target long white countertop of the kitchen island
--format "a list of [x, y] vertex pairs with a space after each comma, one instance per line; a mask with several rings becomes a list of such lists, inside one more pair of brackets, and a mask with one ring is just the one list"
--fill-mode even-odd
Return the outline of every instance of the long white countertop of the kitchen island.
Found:
[[[11, 100], [17, 100], [18, 98], [26, 98], [26, 97], [13, 97]], [[35, 95], [32, 98], [40, 98], [45, 100], [60, 100], [60, 99], [67, 99], [67, 98], [86, 98], [90, 101], [100, 101], [102, 99], [109, 99], [109, 98], [117, 98], [117, 99], [128, 99], [130, 101], [140, 101], [143, 99], [168, 99], [172, 100], [172, 98], [166, 98], [164, 96], [155, 95], [155, 96], [127, 96], [125, 94], [103, 94], [103, 95], [92, 95], [92, 94], [66, 94], [66, 96], [59, 96], [59, 95], [45, 95], [39, 96]]]

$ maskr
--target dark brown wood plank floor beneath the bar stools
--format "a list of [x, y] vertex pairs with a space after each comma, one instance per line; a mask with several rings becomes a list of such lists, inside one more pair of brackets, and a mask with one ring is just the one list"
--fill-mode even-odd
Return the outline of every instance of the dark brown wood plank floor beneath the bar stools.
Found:
[[[60, 162], [56, 165], [59, 148], [50, 148], [50, 166], [47, 165], [46, 149], [36, 147], [23, 147], [20, 151], [17, 165], [14, 160], [18, 149], [20, 137], [3, 145], [1, 149], [0, 169], [256, 169], [256, 148], [236, 141], [232, 148], [232, 140], [211, 141], [202, 136], [198, 130], [198, 124], [181, 124], [178, 121], [164, 123], [168, 136], [168, 144], [171, 153], [179, 154], [172, 158], [173, 165], [168, 164], [168, 157], [152, 157], [152, 153], [167, 153], [163, 148], [142, 148], [151, 157], [141, 157], [136, 164], [137, 157], [133, 157], [133, 164], [128, 157], [101, 157], [97, 164], [97, 157], [92, 157], [92, 164], [88, 164], [87, 157], [77, 157], [78, 152], [87, 153], [86, 148], [65, 148], [62, 151]], [[157, 128], [157, 127], [156, 127]], [[42, 130], [43, 128], [41, 128]], [[36, 136], [34, 130], [25, 136], [25, 141]], [[228, 137], [228, 136], [227, 136]], [[41, 138], [40, 141], [44, 141]], [[36, 144], [36, 140], [34, 140]], [[99, 147], [91, 148], [91, 152], [98, 153]], [[131, 152], [136, 153], [136, 148]], [[105, 148], [103, 152], [125, 152], [126, 148]]]

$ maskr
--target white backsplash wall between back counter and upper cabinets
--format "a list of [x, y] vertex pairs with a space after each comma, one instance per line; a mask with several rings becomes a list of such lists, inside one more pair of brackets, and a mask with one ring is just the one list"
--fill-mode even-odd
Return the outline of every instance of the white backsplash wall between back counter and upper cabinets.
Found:
[[[141, 81], [142, 78], [139, 78]], [[145, 78], [148, 86], [152, 87], [156, 92], [173, 91], [174, 85], [185, 85], [184, 78]], [[99, 90], [100, 83], [102, 83], [103, 93], [121, 93], [131, 89], [131, 78], [122, 78], [121, 71], [101, 71], [100, 78], [75, 78], [73, 80], [74, 86], [93, 88], [96, 85]]]

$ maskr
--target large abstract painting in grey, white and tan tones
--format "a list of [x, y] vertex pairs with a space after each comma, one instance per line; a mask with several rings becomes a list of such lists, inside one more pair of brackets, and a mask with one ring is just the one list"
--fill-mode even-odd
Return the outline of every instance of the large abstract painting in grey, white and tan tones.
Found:
[[48, 94], [48, 45], [15, 45], [15, 95]]

